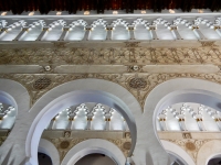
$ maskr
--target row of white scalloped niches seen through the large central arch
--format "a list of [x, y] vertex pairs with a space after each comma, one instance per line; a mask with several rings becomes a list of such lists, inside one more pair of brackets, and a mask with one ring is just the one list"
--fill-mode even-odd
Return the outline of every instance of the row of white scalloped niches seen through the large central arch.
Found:
[[51, 120], [48, 130], [129, 131], [127, 122], [117, 110], [95, 102], [62, 110]]

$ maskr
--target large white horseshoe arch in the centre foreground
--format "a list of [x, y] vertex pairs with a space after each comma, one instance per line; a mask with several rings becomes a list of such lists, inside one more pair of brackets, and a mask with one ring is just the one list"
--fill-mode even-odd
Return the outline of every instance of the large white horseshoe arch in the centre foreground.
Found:
[[137, 141], [135, 119], [141, 113], [137, 100], [117, 84], [99, 79], [78, 79], [52, 89], [30, 110], [35, 117], [25, 142], [27, 156], [31, 157], [30, 163], [34, 164], [36, 161], [40, 136], [44, 127], [50, 122], [49, 119], [52, 119], [61, 109], [83, 102], [106, 105], [116, 109], [125, 118], [131, 133], [131, 148], [128, 153], [128, 156], [131, 156]]

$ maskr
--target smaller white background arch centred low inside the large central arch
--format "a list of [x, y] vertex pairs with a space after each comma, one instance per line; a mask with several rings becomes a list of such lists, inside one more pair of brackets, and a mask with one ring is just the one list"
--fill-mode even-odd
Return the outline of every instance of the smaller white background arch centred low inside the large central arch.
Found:
[[62, 161], [62, 165], [75, 164], [82, 157], [93, 153], [107, 155], [117, 165], [125, 165], [126, 163], [126, 157], [115, 144], [106, 140], [91, 139], [72, 147]]

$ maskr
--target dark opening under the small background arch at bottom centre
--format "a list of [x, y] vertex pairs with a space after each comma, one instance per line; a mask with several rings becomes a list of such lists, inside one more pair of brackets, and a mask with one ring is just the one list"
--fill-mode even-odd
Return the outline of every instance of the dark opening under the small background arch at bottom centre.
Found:
[[104, 154], [88, 154], [82, 157], [75, 165], [117, 165], [110, 157]]

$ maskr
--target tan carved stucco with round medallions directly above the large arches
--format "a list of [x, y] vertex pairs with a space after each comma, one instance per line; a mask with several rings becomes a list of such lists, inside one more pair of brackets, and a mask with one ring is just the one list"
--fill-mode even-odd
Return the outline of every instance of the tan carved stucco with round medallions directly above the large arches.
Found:
[[[0, 78], [12, 79], [15, 81], [21, 82], [29, 91], [32, 105], [42, 97], [46, 91], [51, 90], [52, 88], [62, 85], [64, 82], [75, 80], [75, 79], [83, 79], [83, 78], [97, 78], [97, 79], [105, 79], [113, 82], [116, 82], [128, 91], [130, 91], [135, 98], [139, 101], [140, 106], [144, 107], [145, 100], [147, 95], [159, 84], [173, 79], [173, 78], [198, 78], [198, 79], [206, 79], [213, 82], [221, 84], [221, 73], [218, 74], [147, 74], [147, 73], [128, 73], [128, 74], [2, 74]], [[50, 79], [51, 84], [46, 81], [44, 85], [40, 85], [44, 89], [36, 89], [34, 88], [34, 84], [41, 78]], [[135, 84], [131, 79], [138, 78]], [[141, 81], [140, 81], [141, 80]], [[145, 87], [145, 88], [144, 88]]]

